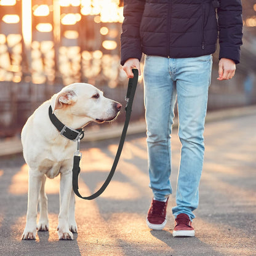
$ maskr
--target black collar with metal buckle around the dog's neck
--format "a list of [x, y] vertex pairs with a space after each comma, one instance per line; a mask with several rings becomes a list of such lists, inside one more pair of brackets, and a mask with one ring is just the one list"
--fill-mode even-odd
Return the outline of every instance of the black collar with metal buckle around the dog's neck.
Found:
[[52, 124], [57, 128], [57, 130], [60, 132], [60, 134], [68, 138], [68, 140], [76, 141], [79, 138], [82, 139], [84, 137], [84, 130], [83, 129], [77, 129], [74, 130], [68, 126], [65, 126], [60, 120], [58, 120], [57, 116], [52, 113], [52, 106], [49, 106], [49, 118], [50, 121], [52, 121]]

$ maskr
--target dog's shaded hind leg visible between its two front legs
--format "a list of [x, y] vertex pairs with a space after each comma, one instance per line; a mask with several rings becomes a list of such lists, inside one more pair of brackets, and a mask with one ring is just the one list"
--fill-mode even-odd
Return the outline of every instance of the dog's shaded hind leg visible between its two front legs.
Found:
[[39, 194], [39, 209], [40, 217], [38, 222], [38, 231], [49, 230], [49, 219], [48, 219], [48, 199], [46, 192], [44, 191], [44, 185], [46, 183], [46, 176], [42, 176], [42, 186]]

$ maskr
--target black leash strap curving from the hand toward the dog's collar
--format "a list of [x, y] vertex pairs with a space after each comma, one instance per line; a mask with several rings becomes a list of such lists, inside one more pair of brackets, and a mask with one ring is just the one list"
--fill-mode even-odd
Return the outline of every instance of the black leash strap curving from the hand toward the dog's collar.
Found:
[[113, 166], [110, 170], [110, 174], [108, 174], [108, 177], [106, 178], [106, 181], [103, 183], [102, 187], [92, 194], [91, 196], [81, 196], [81, 194], [78, 191], [78, 176], [80, 172], [80, 167], [79, 167], [79, 162], [81, 160], [81, 155], [79, 154], [74, 154], [74, 163], [73, 163], [73, 190], [74, 193], [79, 196], [79, 198], [82, 199], [87, 199], [87, 200], [92, 200], [100, 196], [100, 194], [103, 193], [103, 191], [106, 189], [108, 184], [111, 181], [111, 178], [114, 175], [114, 172], [116, 170], [116, 166], [118, 165], [119, 158], [121, 156], [122, 152], [122, 147], [124, 146], [124, 140], [126, 139], [126, 132], [129, 126], [129, 121], [130, 121], [130, 114], [132, 113], [132, 103], [134, 102], [134, 95], [135, 95], [135, 90], [137, 87], [137, 82], [138, 82], [138, 70], [134, 69], [132, 70], [134, 73], [134, 78], [129, 79], [128, 83], [128, 88], [127, 88], [127, 94], [126, 94], [126, 121], [124, 122], [124, 128], [122, 129], [122, 135], [120, 138], [119, 146], [118, 146], [118, 151], [116, 152], [116, 157], [114, 158]]

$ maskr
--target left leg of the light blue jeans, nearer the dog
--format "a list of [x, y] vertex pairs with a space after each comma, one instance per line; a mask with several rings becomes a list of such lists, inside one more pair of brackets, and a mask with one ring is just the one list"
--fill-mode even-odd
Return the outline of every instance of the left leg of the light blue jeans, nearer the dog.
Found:
[[150, 188], [155, 200], [164, 201], [172, 193], [170, 133], [176, 100], [168, 58], [145, 57], [144, 95]]

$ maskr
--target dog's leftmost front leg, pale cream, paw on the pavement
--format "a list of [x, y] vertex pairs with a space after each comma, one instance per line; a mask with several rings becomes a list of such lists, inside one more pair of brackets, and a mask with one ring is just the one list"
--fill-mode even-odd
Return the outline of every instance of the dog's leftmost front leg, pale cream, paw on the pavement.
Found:
[[38, 216], [38, 197], [42, 185], [42, 174], [36, 170], [29, 171], [28, 180], [28, 211], [26, 214], [26, 226], [22, 239], [36, 239], [36, 218]]

